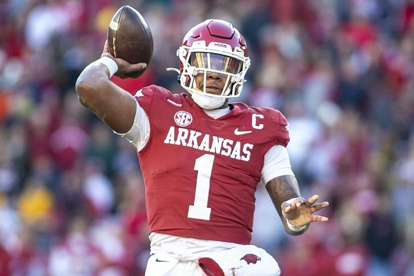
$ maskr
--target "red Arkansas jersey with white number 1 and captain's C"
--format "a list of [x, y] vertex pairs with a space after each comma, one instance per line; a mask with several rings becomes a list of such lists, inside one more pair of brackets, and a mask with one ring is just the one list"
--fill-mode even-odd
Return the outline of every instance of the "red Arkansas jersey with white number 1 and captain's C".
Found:
[[138, 157], [150, 232], [250, 244], [264, 155], [288, 144], [286, 118], [230, 103], [213, 119], [184, 93], [148, 86], [142, 94], [150, 138]]

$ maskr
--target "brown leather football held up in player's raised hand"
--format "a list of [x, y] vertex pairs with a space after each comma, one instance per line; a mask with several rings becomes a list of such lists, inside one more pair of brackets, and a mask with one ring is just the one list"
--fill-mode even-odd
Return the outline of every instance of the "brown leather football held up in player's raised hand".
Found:
[[[130, 6], [115, 12], [108, 27], [108, 48], [112, 56], [129, 63], [150, 63], [153, 50], [152, 33], [144, 17]], [[145, 70], [128, 77], [139, 77]]]

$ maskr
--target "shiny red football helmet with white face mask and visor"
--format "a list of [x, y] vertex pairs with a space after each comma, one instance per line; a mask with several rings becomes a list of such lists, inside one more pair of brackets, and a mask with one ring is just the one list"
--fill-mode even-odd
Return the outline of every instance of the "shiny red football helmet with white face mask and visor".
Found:
[[[221, 95], [210, 97], [239, 97], [244, 77], [250, 66], [246, 41], [240, 32], [219, 19], [208, 19], [187, 32], [177, 50], [179, 82], [190, 94], [206, 94], [208, 72], [226, 75]], [[204, 73], [204, 89], [196, 89], [195, 75]]]

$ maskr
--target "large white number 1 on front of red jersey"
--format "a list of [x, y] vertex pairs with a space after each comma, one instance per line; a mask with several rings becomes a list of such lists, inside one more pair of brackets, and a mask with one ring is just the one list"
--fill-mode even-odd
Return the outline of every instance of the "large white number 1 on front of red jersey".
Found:
[[210, 191], [210, 177], [213, 170], [214, 155], [202, 155], [195, 160], [197, 170], [194, 205], [188, 207], [188, 217], [191, 219], [210, 220], [211, 208], [207, 207]]

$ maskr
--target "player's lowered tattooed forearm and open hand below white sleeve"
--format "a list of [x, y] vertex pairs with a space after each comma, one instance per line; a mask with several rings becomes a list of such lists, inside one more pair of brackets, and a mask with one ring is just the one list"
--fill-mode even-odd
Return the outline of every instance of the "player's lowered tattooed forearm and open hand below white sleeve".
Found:
[[308, 230], [311, 222], [328, 221], [328, 217], [314, 215], [317, 210], [328, 206], [328, 202], [316, 204], [318, 195], [313, 195], [306, 200], [301, 197], [294, 175], [282, 175], [270, 179], [266, 183], [266, 190], [282, 219], [286, 233], [301, 235]]

